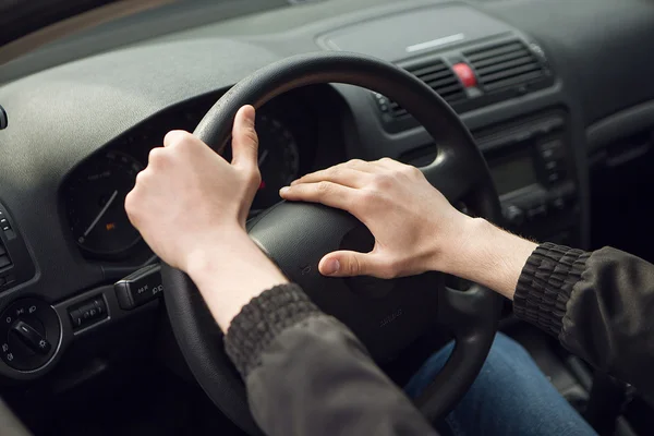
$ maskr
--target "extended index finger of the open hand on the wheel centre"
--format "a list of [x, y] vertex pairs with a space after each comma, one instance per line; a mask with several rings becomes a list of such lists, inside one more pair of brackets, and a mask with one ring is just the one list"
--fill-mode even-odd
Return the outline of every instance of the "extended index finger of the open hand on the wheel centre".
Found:
[[279, 191], [279, 195], [291, 202], [322, 203], [325, 206], [348, 210], [354, 216], [356, 215], [351, 209], [360, 196], [358, 190], [331, 182], [286, 186]]

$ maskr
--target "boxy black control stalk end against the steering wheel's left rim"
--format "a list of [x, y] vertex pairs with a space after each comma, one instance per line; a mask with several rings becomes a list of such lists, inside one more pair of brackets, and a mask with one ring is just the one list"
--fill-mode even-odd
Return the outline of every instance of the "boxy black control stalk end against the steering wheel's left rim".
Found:
[[160, 270], [159, 265], [146, 266], [116, 282], [120, 306], [129, 311], [156, 299], [164, 291]]

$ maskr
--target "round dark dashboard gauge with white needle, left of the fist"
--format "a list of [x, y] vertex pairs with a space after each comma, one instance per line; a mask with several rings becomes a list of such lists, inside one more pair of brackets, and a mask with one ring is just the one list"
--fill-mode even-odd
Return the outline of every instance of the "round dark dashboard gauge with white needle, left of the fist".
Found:
[[83, 250], [119, 255], [141, 241], [124, 203], [142, 169], [131, 156], [109, 152], [86, 162], [69, 180], [66, 211], [73, 237]]

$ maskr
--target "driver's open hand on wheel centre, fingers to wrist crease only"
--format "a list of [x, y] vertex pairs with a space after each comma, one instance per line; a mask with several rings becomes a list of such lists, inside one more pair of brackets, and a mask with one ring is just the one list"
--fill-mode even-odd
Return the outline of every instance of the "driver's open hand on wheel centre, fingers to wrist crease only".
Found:
[[471, 218], [452, 207], [415, 167], [391, 159], [350, 160], [304, 175], [281, 196], [344, 209], [375, 235], [371, 253], [335, 252], [320, 262], [330, 276], [383, 278], [447, 269], [453, 246], [468, 243]]

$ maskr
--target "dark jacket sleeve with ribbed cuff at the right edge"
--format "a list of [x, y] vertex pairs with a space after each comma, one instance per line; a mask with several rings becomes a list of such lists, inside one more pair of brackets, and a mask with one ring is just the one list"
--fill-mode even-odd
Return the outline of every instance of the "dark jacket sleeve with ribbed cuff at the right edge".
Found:
[[609, 247], [542, 244], [522, 270], [513, 310], [596, 368], [654, 392], [654, 265]]

